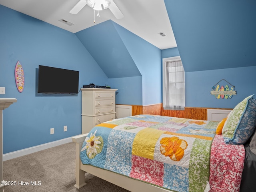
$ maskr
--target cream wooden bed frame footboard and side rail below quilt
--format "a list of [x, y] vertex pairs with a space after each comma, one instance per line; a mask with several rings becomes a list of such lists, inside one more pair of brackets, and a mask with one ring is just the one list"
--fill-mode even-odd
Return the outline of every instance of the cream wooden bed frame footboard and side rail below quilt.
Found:
[[103, 170], [90, 165], [83, 165], [80, 160], [80, 150], [87, 135], [88, 134], [82, 134], [72, 137], [72, 141], [76, 143], [76, 184], [74, 185], [76, 188], [79, 189], [86, 185], [84, 174], [85, 172], [88, 172], [132, 192], [170, 192], [170, 190], [116, 174], [108, 170]]

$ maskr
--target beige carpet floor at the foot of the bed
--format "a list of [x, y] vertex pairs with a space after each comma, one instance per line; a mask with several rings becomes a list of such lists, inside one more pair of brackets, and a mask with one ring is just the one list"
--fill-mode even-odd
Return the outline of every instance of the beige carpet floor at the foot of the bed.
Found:
[[13, 184], [4, 192], [128, 192], [88, 173], [87, 185], [75, 188], [75, 153], [70, 142], [4, 161], [4, 180]]

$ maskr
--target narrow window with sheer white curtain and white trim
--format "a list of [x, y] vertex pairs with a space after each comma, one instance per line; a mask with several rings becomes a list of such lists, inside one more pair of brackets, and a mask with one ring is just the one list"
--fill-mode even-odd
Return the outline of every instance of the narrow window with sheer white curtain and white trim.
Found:
[[163, 107], [184, 110], [185, 72], [180, 56], [163, 59]]

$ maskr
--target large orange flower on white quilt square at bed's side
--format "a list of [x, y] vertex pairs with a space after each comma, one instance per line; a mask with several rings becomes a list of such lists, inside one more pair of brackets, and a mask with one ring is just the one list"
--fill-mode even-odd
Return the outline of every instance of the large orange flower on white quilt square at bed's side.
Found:
[[164, 156], [169, 156], [171, 160], [180, 161], [184, 156], [184, 150], [188, 143], [178, 137], [164, 137], [160, 141], [160, 151]]

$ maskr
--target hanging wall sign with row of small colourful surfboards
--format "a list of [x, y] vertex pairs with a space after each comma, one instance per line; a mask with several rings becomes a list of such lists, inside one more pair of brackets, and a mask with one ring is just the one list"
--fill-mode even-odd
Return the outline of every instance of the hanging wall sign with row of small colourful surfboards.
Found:
[[[224, 79], [222, 79], [224, 80]], [[214, 95], [215, 98], [217, 99], [228, 99], [228, 98], [232, 98], [233, 95], [236, 95], [236, 91], [234, 90], [235, 89], [235, 86], [233, 86], [232, 84], [230, 84], [229, 82], [227, 82], [228, 84], [230, 84], [230, 87], [228, 85], [219, 85], [219, 83], [222, 81], [220, 80], [218, 83], [216, 83], [216, 85], [212, 86], [212, 90], [211, 91], [211, 95]], [[226, 84], [226, 83], [225, 83]]]

